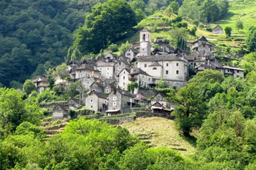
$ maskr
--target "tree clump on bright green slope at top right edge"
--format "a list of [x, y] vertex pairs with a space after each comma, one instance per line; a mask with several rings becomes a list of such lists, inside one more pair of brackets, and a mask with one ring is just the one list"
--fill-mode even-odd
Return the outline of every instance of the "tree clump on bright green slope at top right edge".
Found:
[[227, 15], [228, 0], [184, 0], [179, 14], [193, 20], [210, 23]]

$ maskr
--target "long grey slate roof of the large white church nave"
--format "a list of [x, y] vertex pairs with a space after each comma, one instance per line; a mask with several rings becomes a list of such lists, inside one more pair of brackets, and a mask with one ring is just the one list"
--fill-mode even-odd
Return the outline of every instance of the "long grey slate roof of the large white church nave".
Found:
[[175, 54], [161, 55], [161, 56], [140, 56], [137, 61], [175, 61], [181, 60]]

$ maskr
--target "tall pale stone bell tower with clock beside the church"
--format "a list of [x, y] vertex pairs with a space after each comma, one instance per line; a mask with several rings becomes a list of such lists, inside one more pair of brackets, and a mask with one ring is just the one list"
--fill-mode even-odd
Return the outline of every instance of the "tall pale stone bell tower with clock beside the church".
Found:
[[147, 28], [140, 31], [140, 56], [151, 55], [151, 32]]

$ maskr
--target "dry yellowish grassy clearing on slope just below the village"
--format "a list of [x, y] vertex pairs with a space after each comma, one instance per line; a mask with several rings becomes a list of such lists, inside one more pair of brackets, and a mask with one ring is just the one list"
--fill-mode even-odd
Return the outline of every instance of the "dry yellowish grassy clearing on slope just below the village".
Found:
[[161, 117], [137, 118], [136, 121], [123, 123], [132, 134], [152, 134], [151, 144], [154, 147], [168, 147], [177, 150], [183, 156], [195, 151], [195, 139], [185, 138], [175, 129], [174, 121]]

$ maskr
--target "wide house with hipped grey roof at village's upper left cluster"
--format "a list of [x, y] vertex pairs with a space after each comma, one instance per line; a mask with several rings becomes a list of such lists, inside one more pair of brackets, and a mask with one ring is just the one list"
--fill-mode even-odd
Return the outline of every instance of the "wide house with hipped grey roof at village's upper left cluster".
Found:
[[80, 78], [90, 78], [90, 77], [100, 77], [100, 71], [94, 68], [93, 65], [82, 64], [76, 68], [76, 79]]

